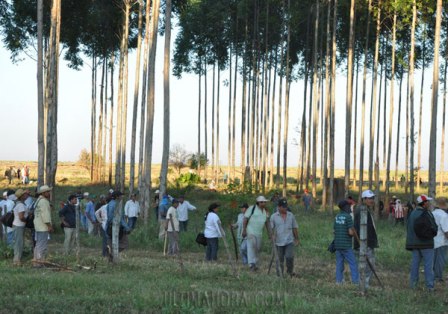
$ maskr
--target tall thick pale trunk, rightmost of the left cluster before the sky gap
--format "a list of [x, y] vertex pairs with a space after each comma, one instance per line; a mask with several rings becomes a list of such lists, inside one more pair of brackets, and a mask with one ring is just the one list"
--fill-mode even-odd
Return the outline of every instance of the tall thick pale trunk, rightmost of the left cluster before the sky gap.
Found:
[[165, 3], [165, 47], [163, 62], [163, 152], [160, 169], [160, 195], [167, 189], [168, 157], [170, 152], [170, 56], [171, 56], [171, 0]]

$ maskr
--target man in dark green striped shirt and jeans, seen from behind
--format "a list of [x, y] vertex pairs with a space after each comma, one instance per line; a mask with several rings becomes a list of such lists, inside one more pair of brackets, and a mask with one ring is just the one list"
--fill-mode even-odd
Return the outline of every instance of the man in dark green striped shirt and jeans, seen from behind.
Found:
[[353, 219], [352, 208], [349, 200], [342, 200], [338, 207], [341, 210], [334, 219], [334, 245], [336, 248], [336, 283], [344, 282], [344, 261], [350, 267], [353, 284], [359, 284], [358, 265], [352, 249], [352, 237], [357, 236]]

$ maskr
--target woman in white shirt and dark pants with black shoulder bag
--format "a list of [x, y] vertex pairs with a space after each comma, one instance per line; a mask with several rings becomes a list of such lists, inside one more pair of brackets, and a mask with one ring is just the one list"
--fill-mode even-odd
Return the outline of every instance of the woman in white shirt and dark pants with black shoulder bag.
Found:
[[205, 215], [204, 236], [207, 239], [207, 249], [205, 251], [205, 259], [207, 261], [216, 261], [218, 255], [218, 238], [222, 238], [223, 230], [221, 228], [221, 220], [219, 220], [216, 212], [219, 209], [218, 203], [212, 203], [208, 207], [208, 213]]

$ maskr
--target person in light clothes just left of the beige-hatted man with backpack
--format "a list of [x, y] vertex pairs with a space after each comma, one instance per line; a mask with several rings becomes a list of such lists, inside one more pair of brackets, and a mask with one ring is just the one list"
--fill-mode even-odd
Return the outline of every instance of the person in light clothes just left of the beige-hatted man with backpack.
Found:
[[12, 227], [14, 229], [14, 265], [20, 265], [23, 253], [24, 232], [26, 217], [29, 210], [24, 204], [24, 200], [28, 197], [28, 190], [18, 189], [15, 193], [17, 197], [16, 206], [14, 206], [14, 221]]

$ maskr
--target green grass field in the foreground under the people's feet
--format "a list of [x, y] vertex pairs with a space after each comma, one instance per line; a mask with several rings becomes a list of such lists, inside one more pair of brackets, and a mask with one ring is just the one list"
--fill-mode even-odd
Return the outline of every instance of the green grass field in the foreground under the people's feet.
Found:
[[[33, 168], [32, 168], [33, 169]], [[90, 185], [88, 173], [74, 165], [59, 167], [56, 201], [79, 188], [95, 195], [108, 186]], [[7, 187], [0, 181], [0, 189]], [[18, 182], [13, 188], [18, 188]], [[172, 192], [172, 193], [171, 193]], [[171, 190], [172, 195], [180, 193]], [[423, 282], [416, 290], [408, 288], [411, 255], [404, 249], [405, 229], [386, 220], [377, 221], [380, 248], [376, 251], [377, 272], [385, 285], [382, 290], [373, 279], [371, 289], [361, 296], [349, 284], [337, 286], [335, 257], [326, 248], [332, 239], [333, 217], [314, 211], [305, 214], [295, 199], [290, 199], [299, 223], [301, 246], [296, 249], [295, 272], [298, 278], [281, 279], [268, 264], [270, 244], [265, 235], [258, 273], [238, 265], [239, 278], [233, 275], [224, 243], [220, 242], [218, 262], [204, 262], [204, 250], [195, 242], [203, 228], [203, 215], [208, 204], [222, 204], [218, 213], [224, 226], [236, 219], [237, 205], [251, 203], [254, 195], [224, 194], [194, 189], [187, 199], [198, 207], [190, 214], [187, 233], [181, 234], [180, 248], [184, 263], [163, 256], [163, 243], [156, 238], [153, 215], [147, 225], [139, 220], [129, 236], [130, 248], [120, 262], [110, 264], [101, 257], [101, 238], [81, 235], [80, 265], [75, 256], [62, 254], [63, 234], [60, 229], [50, 240], [49, 260], [67, 269], [34, 269], [27, 243], [22, 267], [12, 267], [11, 252], [0, 247], [0, 313], [444, 313], [448, 311], [448, 286], [437, 285], [428, 294]], [[152, 213], [151, 213], [152, 214]], [[53, 213], [56, 225], [57, 214]], [[228, 228], [226, 228], [228, 229]], [[233, 251], [231, 238], [227, 238]], [[84, 266], [84, 267], [82, 267]], [[88, 269], [87, 269], [88, 268]], [[421, 274], [423, 281], [423, 274]]]

